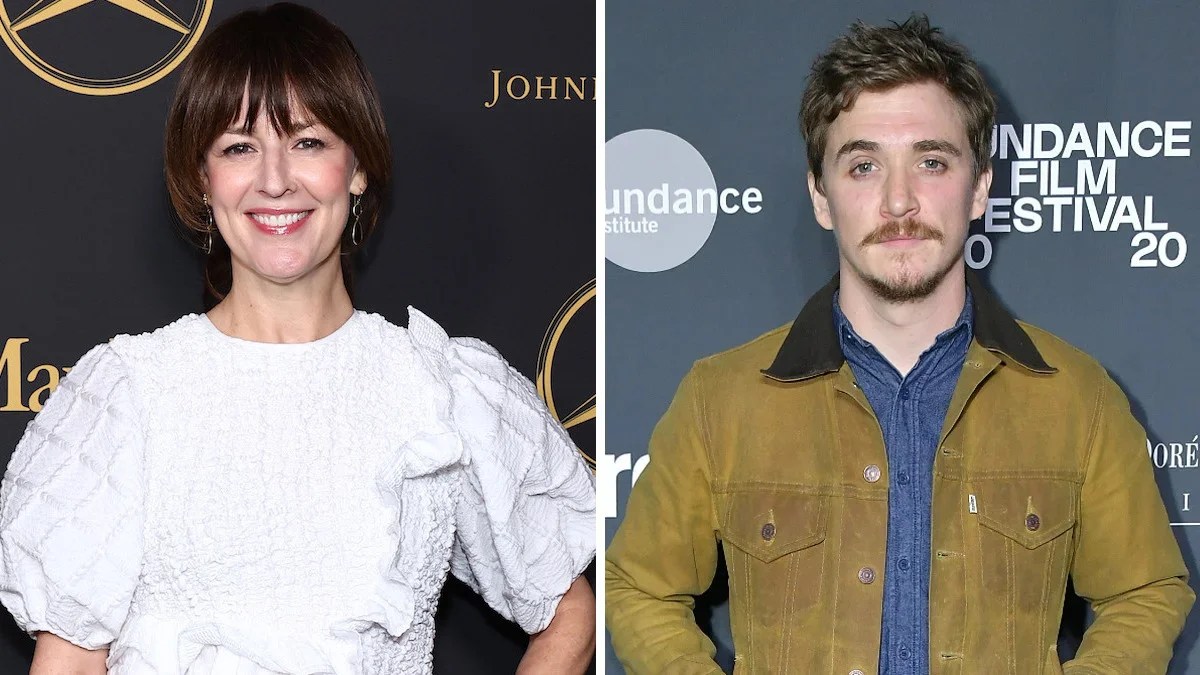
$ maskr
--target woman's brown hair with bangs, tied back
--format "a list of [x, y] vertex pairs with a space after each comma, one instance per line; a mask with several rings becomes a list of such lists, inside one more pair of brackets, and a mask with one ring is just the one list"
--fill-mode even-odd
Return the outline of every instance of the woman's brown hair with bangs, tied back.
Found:
[[[301, 109], [292, 109], [293, 104]], [[299, 121], [319, 121], [354, 150], [367, 189], [361, 198], [359, 244], [352, 241], [347, 227], [343, 256], [367, 240], [383, 208], [391, 148], [379, 94], [350, 40], [317, 12], [290, 2], [234, 14], [196, 46], [167, 114], [164, 161], [172, 205], [202, 246], [211, 235], [204, 265], [205, 307], [229, 293], [233, 268], [229, 249], [210, 225], [204, 203], [204, 156], [236, 120], [245, 120], [244, 131], [250, 133], [263, 109], [281, 136], [295, 133]], [[353, 293], [352, 269], [344, 259], [342, 277]]]

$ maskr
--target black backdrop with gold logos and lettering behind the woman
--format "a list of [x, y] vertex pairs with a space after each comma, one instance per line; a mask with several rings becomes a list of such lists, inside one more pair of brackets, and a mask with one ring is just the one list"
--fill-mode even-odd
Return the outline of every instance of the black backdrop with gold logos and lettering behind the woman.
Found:
[[[595, 452], [595, 5], [306, 1], [383, 97], [395, 175], [356, 305], [494, 345]], [[0, 0], [0, 460], [88, 348], [202, 311], [163, 185], [176, 67], [246, 0]], [[438, 673], [511, 673], [526, 637], [456, 581]], [[32, 640], [0, 616], [0, 673]]]

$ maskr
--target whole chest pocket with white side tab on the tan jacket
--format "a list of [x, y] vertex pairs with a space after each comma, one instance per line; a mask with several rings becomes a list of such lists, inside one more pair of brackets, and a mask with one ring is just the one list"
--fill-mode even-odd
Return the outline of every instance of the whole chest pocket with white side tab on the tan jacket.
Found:
[[1039, 631], [1044, 608], [1061, 603], [1067, 585], [1078, 485], [1048, 478], [985, 478], [971, 485], [983, 598], [1004, 598], [1010, 621]]

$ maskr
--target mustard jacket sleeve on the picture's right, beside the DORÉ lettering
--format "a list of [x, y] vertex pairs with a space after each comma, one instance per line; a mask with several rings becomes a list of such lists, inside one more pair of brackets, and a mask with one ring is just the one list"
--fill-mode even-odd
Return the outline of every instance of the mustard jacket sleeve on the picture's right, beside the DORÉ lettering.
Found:
[[1070, 675], [1165, 673], [1195, 601], [1146, 454], [1146, 432], [1105, 377], [1079, 508], [1072, 579], [1096, 620]]

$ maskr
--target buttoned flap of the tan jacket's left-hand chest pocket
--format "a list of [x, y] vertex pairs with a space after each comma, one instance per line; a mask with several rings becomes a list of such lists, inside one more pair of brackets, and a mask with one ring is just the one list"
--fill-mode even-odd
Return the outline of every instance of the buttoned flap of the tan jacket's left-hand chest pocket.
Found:
[[728, 500], [721, 538], [763, 562], [824, 540], [824, 495], [749, 491]]

